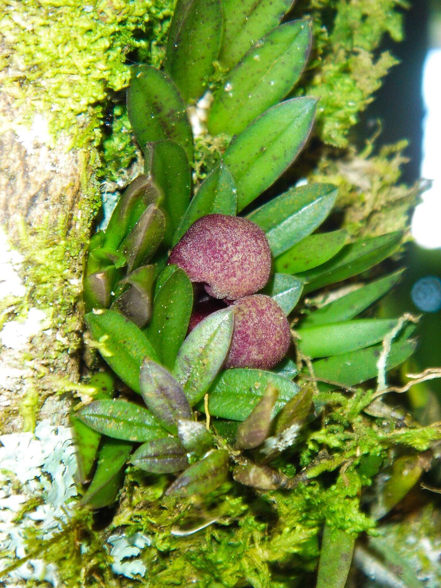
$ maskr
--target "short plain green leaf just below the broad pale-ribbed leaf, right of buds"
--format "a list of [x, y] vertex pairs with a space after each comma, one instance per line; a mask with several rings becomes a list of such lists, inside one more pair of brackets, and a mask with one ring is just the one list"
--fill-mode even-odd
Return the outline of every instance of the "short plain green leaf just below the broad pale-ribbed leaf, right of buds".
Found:
[[282, 273], [306, 272], [327, 262], [345, 245], [346, 230], [309, 235], [274, 260], [274, 269]]

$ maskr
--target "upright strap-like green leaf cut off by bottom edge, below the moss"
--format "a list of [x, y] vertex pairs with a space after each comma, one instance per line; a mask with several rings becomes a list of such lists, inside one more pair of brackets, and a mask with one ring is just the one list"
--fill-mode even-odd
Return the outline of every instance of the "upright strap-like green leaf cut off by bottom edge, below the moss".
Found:
[[356, 536], [325, 524], [316, 588], [345, 588]]

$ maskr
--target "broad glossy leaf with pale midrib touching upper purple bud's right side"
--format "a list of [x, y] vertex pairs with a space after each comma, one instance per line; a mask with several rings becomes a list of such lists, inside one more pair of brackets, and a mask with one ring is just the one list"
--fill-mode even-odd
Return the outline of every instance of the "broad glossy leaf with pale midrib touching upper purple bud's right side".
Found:
[[248, 218], [265, 231], [271, 253], [277, 256], [322, 224], [335, 203], [337, 193], [332, 184], [300, 186], [260, 206]]

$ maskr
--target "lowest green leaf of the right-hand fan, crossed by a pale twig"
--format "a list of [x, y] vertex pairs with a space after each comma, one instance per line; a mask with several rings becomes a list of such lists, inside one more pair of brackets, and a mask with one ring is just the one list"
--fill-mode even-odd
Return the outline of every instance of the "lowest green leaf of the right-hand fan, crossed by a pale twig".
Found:
[[[390, 370], [400, 365], [412, 355], [415, 350], [415, 340], [392, 343], [387, 356], [386, 369]], [[318, 359], [313, 362], [315, 377], [319, 380], [336, 382], [343, 386], [354, 386], [366, 382], [378, 374], [377, 362], [382, 352], [382, 345], [375, 345], [365, 349], [358, 349], [330, 358]], [[335, 389], [337, 386], [320, 385], [322, 389]]]

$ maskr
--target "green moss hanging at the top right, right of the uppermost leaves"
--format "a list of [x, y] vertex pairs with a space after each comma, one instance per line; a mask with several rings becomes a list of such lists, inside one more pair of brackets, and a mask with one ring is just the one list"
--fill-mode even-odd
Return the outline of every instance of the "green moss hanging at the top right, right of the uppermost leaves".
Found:
[[298, 2], [296, 16], [312, 20], [313, 58], [297, 95], [320, 98], [316, 128], [329, 145], [348, 145], [348, 131], [387, 71], [397, 63], [377, 54], [384, 34], [402, 40], [403, 0], [310, 0]]

